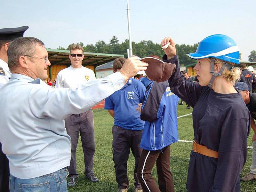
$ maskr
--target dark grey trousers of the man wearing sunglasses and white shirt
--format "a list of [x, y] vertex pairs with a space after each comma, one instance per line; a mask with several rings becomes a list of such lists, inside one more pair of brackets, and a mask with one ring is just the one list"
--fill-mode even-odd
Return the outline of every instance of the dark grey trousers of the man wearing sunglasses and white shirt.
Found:
[[76, 146], [79, 133], [84, 152], [84, 174], [93, 173], [93, 156], [95, 152], [94, 126], [92, 109], [81, 114], [73, 114], [65, 119], [65, 128], [71, 137], [71, 160], [68, 167], [70, 178], [77, 178], [76, 172]]

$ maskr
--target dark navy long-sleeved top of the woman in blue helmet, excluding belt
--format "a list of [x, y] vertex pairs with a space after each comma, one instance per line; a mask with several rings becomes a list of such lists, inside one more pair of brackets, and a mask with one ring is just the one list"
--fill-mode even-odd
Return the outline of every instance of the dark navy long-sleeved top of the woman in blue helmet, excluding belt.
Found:
[[195, 139], [219, 153], [218, 158], [213, 158], [191, 150], [188, 192], [239, 192], [251, 119], [241, 95], [220, 94], [208, 86], [184, 81], [178, 57], [167, 60], [164, 55], [163, 60], [176, 64], [175, 73], [168, 80], [172, 92], [194, 108]]

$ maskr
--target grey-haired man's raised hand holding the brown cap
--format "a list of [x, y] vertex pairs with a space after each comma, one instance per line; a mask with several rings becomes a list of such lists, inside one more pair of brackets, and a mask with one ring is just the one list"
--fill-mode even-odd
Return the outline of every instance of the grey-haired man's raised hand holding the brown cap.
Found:
[[147, 70], [148, 63], [139, 60], [139, 57], [130, 57], [120, 69], [120, 73], [124, 76], [124, 83], [131, 77], [135, 76], [138, 71]]

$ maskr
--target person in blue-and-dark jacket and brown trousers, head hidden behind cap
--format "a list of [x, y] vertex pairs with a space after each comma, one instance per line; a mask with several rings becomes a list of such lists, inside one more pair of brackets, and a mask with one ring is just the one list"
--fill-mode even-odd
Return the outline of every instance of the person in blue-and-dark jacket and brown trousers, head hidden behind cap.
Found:
[[[141, 120], [145, 120], [140, 142], [137, 175], [144, 192], [174, 192], [170, 169], [171, 144], [178, 141], [177, 104], [179, 98], [171, 92], [168, 81], [152, 81], [138, 110]], [[156, 163], [159, 188], [152, 177]]]

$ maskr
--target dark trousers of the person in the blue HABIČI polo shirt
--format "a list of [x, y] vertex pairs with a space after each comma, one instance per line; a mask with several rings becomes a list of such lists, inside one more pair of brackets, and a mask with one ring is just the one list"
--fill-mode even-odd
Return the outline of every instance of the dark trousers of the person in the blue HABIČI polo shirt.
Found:
[[115, 164], [116, 182], [118, 183], [118, 188], [124, 189], [128, 188], [129, 186], [129, 180], [127, 176], [127, 161], [130, 154], [130, 148], [132, 150], [132, 155], [135, 157], [133, 175], [135, 180], [134, 186], [135, 188], [141, 187], [140, 181], [137, 177], [137, 169], [142, 151], [142, 148], [140, 148], [142, 130], [127, 130], [114, 125], [112, 128], [112, 134], [113, 161]]

